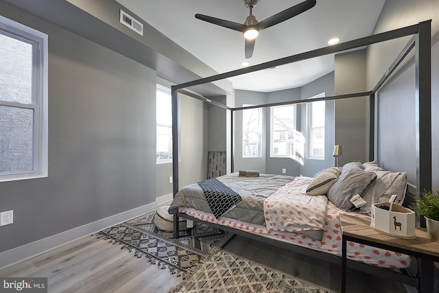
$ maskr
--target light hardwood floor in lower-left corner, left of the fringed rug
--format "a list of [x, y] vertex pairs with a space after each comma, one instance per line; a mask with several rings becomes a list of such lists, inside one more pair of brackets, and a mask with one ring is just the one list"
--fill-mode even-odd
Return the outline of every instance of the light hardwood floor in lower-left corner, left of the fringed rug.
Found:
[[49, 292], [167, 292], [181, 281], [106, 239], [84, 237], [0, 270], [1, 277], [47, 277]]

